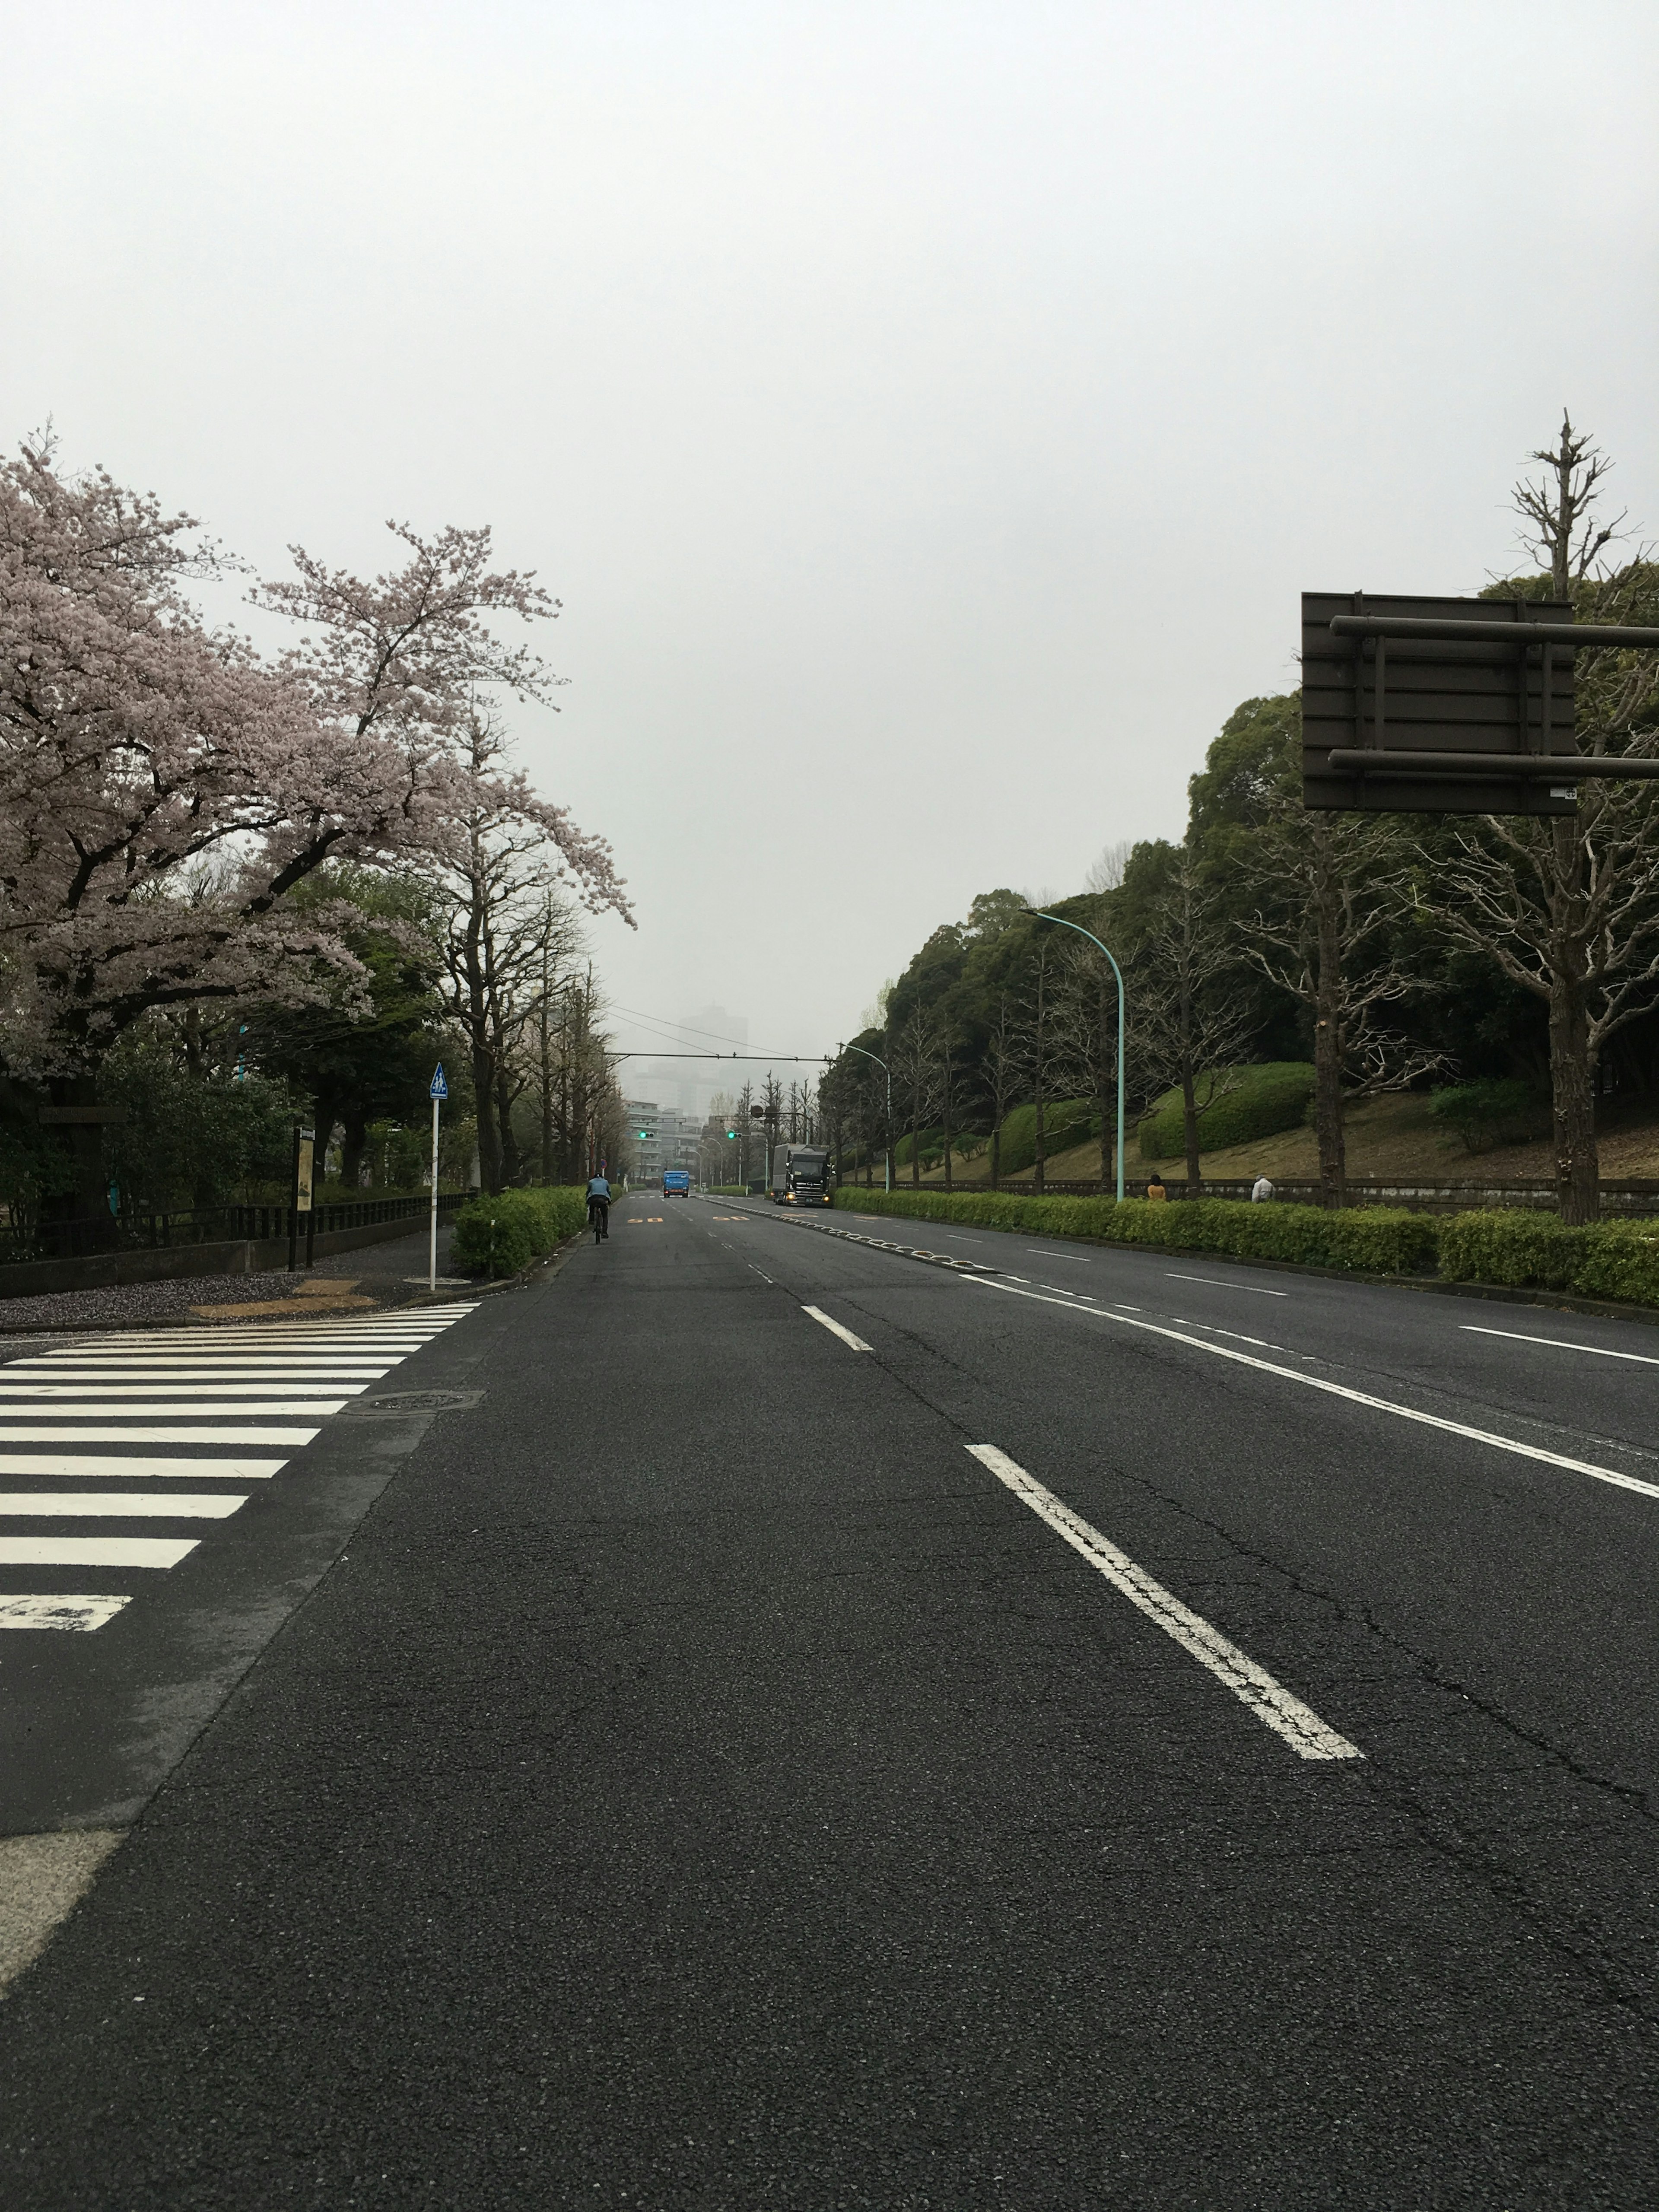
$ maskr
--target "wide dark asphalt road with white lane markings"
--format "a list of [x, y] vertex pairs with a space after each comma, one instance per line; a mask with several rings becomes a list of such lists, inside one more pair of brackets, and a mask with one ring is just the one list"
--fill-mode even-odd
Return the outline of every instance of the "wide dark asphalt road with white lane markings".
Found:
[[613, 1228], [294, 1453], [336, 1564], [0, 2006], [9, 2208], [1655, 2199], [1659, 1332]]

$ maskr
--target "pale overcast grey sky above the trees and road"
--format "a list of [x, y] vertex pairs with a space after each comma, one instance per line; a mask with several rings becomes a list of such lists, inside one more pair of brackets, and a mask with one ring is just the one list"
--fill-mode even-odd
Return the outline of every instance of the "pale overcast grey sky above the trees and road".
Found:
[[268, 571], [491, 522], [626, 1006], [821, 1051], [1179, 834], [1298, 591], [1480, 588], [1562, 403], [1659, 533], [1652, 0], [0, 20], [7, 440]]

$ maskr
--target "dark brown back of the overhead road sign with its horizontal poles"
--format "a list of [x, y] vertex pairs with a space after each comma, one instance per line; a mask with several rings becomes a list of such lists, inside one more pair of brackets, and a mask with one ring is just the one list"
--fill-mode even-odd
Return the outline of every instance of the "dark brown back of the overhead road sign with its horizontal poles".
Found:
[[1303, 805], [1573, 814], [1588, 776], [1659, 776], [1659, 759], [1579, 757], [1582, 646], [1659, 630], [1573, 622], [1559, 599], [1303, 593]]

